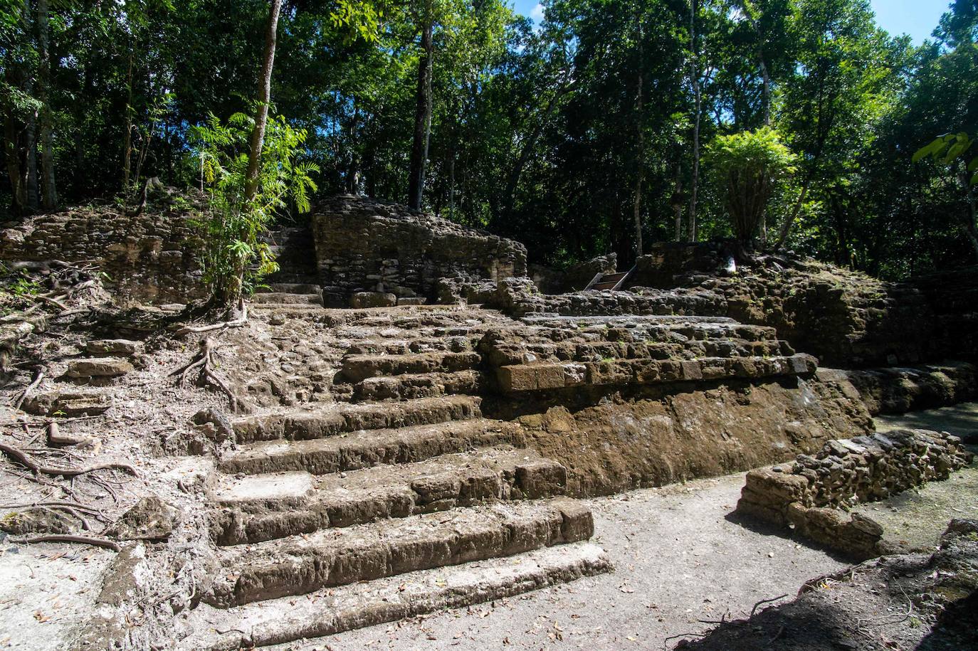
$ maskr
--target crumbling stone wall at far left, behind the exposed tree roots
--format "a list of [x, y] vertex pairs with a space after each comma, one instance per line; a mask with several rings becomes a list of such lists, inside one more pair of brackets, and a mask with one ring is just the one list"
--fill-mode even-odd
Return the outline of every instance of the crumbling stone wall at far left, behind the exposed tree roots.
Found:
[[111, 205], [37, 215], [0, 231], [0, 260], [88, 263], [123, 300], [183, 303], [204, 295], [190, 219], [174, 207], [134, 217]]

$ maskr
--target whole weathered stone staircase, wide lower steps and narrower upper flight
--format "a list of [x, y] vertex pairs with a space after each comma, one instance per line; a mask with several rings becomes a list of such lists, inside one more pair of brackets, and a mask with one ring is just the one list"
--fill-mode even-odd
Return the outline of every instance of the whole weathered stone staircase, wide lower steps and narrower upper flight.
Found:
[[[255, 304], [270, 306], [332, 312]], [[481, 412], [482, 328], [427, 312], [401, 313], [403, 339], [389, 315], [357, 319], [334, 402], [232, 422], [238, 446], [207, 480], [215, 581], [181, 648], [288, 642], [610, 569], [565, 467]]]

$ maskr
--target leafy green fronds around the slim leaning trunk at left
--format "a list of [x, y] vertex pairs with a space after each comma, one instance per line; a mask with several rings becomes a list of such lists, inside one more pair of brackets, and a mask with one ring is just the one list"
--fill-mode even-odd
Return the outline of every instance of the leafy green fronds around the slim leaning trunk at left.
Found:
[[281, 115], [270, 117], [261, 153], [258, 189], [245, 201], [248, 141], [254, 120], [235, 113], [227, 124], [213, 114], [191, 130], [200, 164], [201, 186], [209, 207], [196, 220], [204, 239], [203, 280], [218, 302], [231, 305], [250, 294], [261, 279], [278, 271], [275, 255], [261, 237], [289, 207], [307, 212], [316, 191], [313, 162], [298, 162], [304, 129], [294, 129]]

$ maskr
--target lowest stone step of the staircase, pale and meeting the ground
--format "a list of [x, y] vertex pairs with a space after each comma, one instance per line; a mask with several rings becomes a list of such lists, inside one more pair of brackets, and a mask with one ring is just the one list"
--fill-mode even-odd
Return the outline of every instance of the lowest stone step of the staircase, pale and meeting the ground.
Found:
[[[519, 562], [514, 562], [518, 560]], [[232, 651], [332, 635], [448, 608], [516, 596], [610, 572], [600, 546], [573, 542], [366, 584], [319, 590], [219, 609], [200, 604], [189, 615], [180, 651]]]

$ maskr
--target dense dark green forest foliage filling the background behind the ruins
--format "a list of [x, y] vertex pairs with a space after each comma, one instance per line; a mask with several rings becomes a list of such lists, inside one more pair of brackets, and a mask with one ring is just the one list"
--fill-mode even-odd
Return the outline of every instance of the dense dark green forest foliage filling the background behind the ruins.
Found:
[[[302, 159], [318, 165], [309, 171], [317, 190], [300, 194], [404, 200], [418, 24], [430, 12], [423, 207], [519, 239], [534, 262], [562, 266], [615, 251], [627, 265], [640, 186], [645, 241], [674, 238], [676, 207], [689, 213], [692, 186], [692, 69], [701, 142], [770, 125], [798, 156], [797, 173], [781, 177], [766, 202], [772, 226], [797, 215], [791, 248], [887, 278], [972, 261], [960, 163], [911, 160], [933, 134], [978, 134], [972, 0], [954, 2], [919, 47], [882, 31], [867, 0], [697, 0], [695, 47], [689, 1], [543, 0], [545, 18], [535, 24], [510, 5], [288, 3], [272, 98], [284, 123], [306, 134]], [[36, 3], [0, 9], [0, 108], [15, 127], [7, 151], [26, 161], [31, 119], [51, 116], [62, 202], [101, 201], [119, 193], [128, 129], [133, 187], [137, 166], [143, 178], [199, 187], [200, 157], [187, 152], [199, 152], [200, 137], [188, 125], [211, 114], [227, 125], [249, 112], [268, 3], [50, 7], [43, 101]], [[218, 149], [244, 152], [240, 139]], [[734, 234], [725, 171], [713, 169], [720, 162], [708, 156], [701, 168], [702, 179], [718, 181], [697, 187], [704, 237]], [[0, 175], [0, 205], [12, 196], [9, 173]], [[265, 216], [294, 213], [291, 201]], [[238, 248], [262, 266], [260, 252]], [[243, 278], [243, 288], [254, 282]]]

